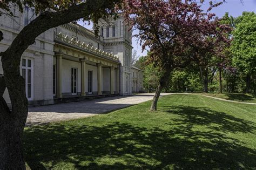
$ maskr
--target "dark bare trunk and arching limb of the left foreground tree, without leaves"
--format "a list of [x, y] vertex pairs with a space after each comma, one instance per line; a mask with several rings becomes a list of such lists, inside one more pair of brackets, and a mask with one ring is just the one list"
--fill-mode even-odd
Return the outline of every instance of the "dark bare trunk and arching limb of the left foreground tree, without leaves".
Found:
[[[4, 71], [0, 82], [0, 169], [25, 169], [21, 137], [28, 116], [28, 100], [25, 82], [19, 73], [23, 52], [46, 30], [88, 17], [92, 13], [97, 16], [98, 11], [105, 11], [110, 4], [109, 1], [87, 1], [63, 11], [41, 13], [19, 32], [6, 51], [0, 53]], [[11, 99], [11, 111], [2, 97], [5, 87]]]

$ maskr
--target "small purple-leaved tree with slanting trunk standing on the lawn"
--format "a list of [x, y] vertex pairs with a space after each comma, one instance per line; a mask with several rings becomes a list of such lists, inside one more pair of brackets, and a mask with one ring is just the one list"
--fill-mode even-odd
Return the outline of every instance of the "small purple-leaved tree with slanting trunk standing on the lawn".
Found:
[[159, 69], [159, 85], [151, 105], [156, 111], [171, 71], [190, 61], [190, 47], [201, 48], [207, 35], [216, 35], [217, 22], [212, 13], [206, 14], [197, 3], [188, 1], [126, 0], [124, 8], [127, 23], [139, 30], [135, 37], [140, 38], [143, 49], [149, 47], [151, 63]]

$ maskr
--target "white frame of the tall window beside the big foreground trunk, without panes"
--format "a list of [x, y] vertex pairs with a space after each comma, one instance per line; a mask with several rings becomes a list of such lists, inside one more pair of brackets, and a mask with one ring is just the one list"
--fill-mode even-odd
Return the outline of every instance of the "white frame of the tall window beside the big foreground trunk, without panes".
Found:
[[[25, 59], [26, 61], [26, 66], [23, 66], [23, 59]], [[28, 60], [31, 60], [31, 67], [28, 66]], [[23, 69], [25, 69], [25, 90], [26, 90], [26, 98], [31, 101], [34, 99], [34, 60], [33, 58], [29, 58], [29, 57], [22, 57], [21, 59], [21, 66], [22, 66], [22, 70], [21, 70], [21, 75], [23, 74]], [[31, 83], [30, 83], [30, 88], [31, 88], [31, 97], [28, 97], [28, 70], [31, 70]]]

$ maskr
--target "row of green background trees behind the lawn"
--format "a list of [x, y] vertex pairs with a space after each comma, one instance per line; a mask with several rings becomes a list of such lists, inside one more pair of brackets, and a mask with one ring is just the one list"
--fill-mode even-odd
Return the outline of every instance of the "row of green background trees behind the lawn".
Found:
[[[220, 23], [232, 28], [228, 32], [230, 44], [222, 44], [222, 56], [207, 53], [200, 62], [191, 60], [185, 67], [174, 69], [165, 92], [256, 92], [256, 15], [243, 12], [234, 18], [228, 13]], [[147, 64], [150, 54], [140, 57], [134, 66], [144, 70], [144, 87], [154, 92], [158, 86], [159, 72], [152, 63]]]

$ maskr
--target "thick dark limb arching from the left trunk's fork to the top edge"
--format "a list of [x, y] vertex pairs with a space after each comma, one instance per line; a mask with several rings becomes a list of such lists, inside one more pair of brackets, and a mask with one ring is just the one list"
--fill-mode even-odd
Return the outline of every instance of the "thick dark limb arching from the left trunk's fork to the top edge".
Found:
[[114, 2], [115, 0], [87, 0], [85, 3], [72, 5], [62, 11], [46, 11], [19, 32], [8, 49], [1, 53], [4, 79], [11, 99], [12, 112], [16, 112], [16, 109], [27, 110], [28, 101], [25, 97], [24, 79], [19, 73], [19, 64], [23, 52], [35, 42], [36, 37], [46, 30], [77, 21], [80, 18], [105, 17], [109, 12], [106, 9], [112, 8]]

